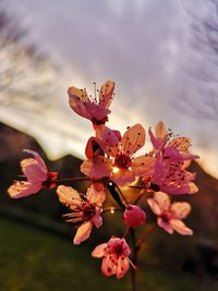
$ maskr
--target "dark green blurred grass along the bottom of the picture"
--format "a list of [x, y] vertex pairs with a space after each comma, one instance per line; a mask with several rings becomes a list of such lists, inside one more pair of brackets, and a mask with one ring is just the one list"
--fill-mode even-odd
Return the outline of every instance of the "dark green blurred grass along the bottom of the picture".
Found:
[[[87, 244], [74, 246], [61, 238], [1, 219], [1, 291], [130, 290], [129, 276], [117, 280], [100, 274], [100, 259]], [[137, 291], [217, 290], [208, 278], [140, 267]]]

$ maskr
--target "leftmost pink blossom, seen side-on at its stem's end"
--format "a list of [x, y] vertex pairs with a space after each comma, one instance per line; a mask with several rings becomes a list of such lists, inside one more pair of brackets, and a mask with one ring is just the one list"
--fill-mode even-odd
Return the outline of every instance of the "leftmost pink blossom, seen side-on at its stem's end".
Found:
[[33, 150], [24, 151], [34, 158], [21, 161], [22, 171], [27, 181], [15, 181], [8, 190], [12, 198], [21, 198], [37, 193], [41, 187], [52, 189], [56, 186], [57, 172], [49, 172], [41, 157]]

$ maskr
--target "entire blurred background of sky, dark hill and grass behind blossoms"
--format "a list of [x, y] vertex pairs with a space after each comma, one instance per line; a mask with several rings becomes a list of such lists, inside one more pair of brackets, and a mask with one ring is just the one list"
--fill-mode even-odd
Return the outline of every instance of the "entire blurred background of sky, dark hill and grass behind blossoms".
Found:
[[191, 169], [199, 192], [179, 197], [193, 205], [187, 225], [195, 235], [154, 232], [140, 256], [138, 290], [217, 290], [217, 0], [0, 0], [0, 290], [128, 290], [128, 276], [104, 278], [89, 255], [122, 233], [114, 216], [105, 215], [101, 230], [77, 247], [55, 192], [7, 195], [23, 148], [62, 177], [81, 175], [93, 130], [70, 109], [66, 89], [93, 93], [94, 81], [107, 80], [116, 82], [109, 126], [147, 130], [161, 120], [192, 137], [201, 156]]

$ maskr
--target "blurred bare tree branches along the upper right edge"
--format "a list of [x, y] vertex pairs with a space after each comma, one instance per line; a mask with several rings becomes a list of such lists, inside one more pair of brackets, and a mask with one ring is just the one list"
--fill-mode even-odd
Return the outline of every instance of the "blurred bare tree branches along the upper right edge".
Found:
[[[201, 4], [201, 3], [199, 3]], [[218, 119], [218, 0], [208, 0], [202, 13], [184, 9], [186, 51], [181, 63], [182, 84], [177, 107], [199, 119]]]

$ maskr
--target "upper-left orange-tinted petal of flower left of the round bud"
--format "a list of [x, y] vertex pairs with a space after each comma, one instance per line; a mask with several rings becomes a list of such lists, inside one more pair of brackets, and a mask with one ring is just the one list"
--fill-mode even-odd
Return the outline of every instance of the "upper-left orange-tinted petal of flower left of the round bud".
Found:
[[59, 201], [71, 208], [81, 205], [82, 198], [76, 190], [71, 186], [60, 185], [57, 189]]

